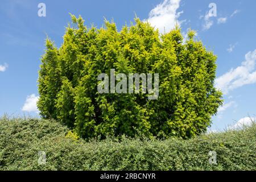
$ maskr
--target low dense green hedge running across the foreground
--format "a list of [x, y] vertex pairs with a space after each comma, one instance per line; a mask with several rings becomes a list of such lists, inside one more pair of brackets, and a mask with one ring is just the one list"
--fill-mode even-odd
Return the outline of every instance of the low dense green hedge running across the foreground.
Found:
[[[183, 140], [85, 142], [60, 123], [0, 119], [0, 170], [256, 170], [256, 126]], [[38, 164], [38, 152], [46, 164]], [[209, 164], [209, 151], [217, 164]]]

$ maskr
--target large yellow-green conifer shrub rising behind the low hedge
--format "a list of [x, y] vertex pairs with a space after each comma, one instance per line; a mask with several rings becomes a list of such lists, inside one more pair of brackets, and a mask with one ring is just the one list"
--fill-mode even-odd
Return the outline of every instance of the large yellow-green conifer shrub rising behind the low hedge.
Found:
[[[39, 71], [38, 108], [43, 118], [65, 123], [84, 138], [126, 134], [189, 138], [203, 133], [222, 104], [214, 88], [216, 56], [176, 27], [159, 35], [149, 23], [117, 31], [105, 20], [97, 29], [72, 15], [58, 49], [46, 40]], [[148, 93], [100, 94], [100, 73], [159, 73], [158, 100]], [[142, 89], [142, 88], [141, 88]]]

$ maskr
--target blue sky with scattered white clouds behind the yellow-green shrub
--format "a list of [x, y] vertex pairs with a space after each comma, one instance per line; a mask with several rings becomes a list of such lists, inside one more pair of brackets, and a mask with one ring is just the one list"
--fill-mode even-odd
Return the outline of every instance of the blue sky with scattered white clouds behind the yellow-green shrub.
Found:
[[[46, 16], [38, 16], [38, 4], [46, 5]], [[209, 16], [210, 3], [216, 15]], [[184, 34], [197, 31], [197, 39], [218, 56], [216, 86], [224, 94], [222, 106], [210, 130], [249, 123], [256, 108], [256, 1], [32, 1], [0, 2], [0, 116], [36, 115], [37, 78], [46, 35], [60, 47], [68, 13], [81, 15], [85, 24], [101, 27], [114, 19], [120, 30], [135, 14], [160, 32], [177, 22]]]

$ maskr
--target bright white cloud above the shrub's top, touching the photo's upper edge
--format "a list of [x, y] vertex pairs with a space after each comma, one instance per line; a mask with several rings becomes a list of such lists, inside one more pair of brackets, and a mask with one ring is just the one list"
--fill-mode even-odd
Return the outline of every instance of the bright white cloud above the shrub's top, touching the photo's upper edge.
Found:
[[180, 0], [164, 0], [163, 3], [152, 9], [148, 15], [147, 22], [158, 28], [160, 33], [169, 32], [175, 27], [175, 24], [181, 24], [183, 21], [177, 20], [183, 11], [177, 12]]

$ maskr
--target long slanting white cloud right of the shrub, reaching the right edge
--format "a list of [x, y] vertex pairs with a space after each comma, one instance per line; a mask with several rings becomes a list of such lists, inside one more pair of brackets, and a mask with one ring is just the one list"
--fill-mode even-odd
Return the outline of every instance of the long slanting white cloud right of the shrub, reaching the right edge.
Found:
[[245, 61], [240, 67], [230, 69], [229, 72], [216, 78], [216, 88], [222, 90], [224, 94], [228, 94], [230, 90], [236, 89], [247, 84], [254, 84], [256, 82], [256, 49], [253, 52], [248, 52], [245, 55]]

